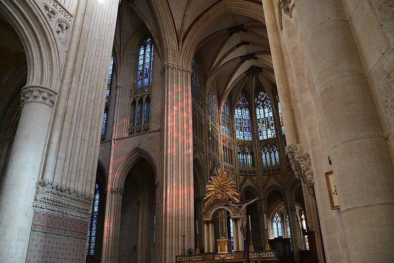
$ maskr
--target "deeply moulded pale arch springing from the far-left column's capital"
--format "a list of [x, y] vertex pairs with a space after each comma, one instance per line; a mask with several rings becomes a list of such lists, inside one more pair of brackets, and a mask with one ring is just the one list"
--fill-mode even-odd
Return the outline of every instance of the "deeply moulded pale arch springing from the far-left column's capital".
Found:
[[11, 0], [0, 2], [0, 12], [13, 25], [25, 50], [26, 85], [41, 85], [57, 91], [62, 72], [60, 51], [43, 11], [33, 1]]

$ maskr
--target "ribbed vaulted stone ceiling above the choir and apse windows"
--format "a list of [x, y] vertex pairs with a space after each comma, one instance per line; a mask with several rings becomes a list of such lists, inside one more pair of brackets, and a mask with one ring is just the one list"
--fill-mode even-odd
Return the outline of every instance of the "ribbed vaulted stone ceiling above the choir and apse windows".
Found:
[[[138, 30], [145, 28], [158, 44], [159, 52], [164, 52], [160, 46], [163, 30], [160, 31], [158, 21], [161, 20], [155, 15], [158, 12], [154, 2], [122, 1], [115, 34], [117, 48], [122, 50]], [[180, 50], [183, 51], [187, 38], [196, 34], [196, 27], [202, 27], [195, 53], [204, 75], [204, 91], [215, 81], [220, 107], [228, 95], [234, 105], [241, 90], [250, 103], [261, 90], [271, 98], [274, 96], [275, 76], [261, 0], [167, 0], [166, 3], [167, 19], [172, 20], [169, 23], [172, 28], [167, 31], [175, 32]], [[225, 10], [215, 16], [219, 6]], [[248, 15], [246, 6], [248, 10], [257, 10], [257, 15]]]

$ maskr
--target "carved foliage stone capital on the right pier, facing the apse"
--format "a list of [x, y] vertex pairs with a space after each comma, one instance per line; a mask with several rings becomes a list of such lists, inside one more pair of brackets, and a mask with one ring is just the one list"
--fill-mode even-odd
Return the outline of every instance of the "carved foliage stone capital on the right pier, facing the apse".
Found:
[[289, 156], [290, 163], [297, 178], [301, 178], [308, 189], [308, 193], [314, 199], [313, 192], [313, 171], [311, 156], [307, 150], [304, 150], [300, 144], [288, 144], [286, 146], [287, 156]]

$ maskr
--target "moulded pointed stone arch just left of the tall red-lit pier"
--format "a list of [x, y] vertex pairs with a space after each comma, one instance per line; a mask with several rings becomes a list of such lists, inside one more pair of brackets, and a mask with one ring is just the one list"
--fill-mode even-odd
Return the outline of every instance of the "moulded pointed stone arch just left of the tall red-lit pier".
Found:
[[126, 177], [131, 169], [131, 167], [140, 159], [145, 159], [151, 166], [154, 172], [155, 180], [158, 178], [158, 168], [155, 160], [149, 154], [148, 151], [136, 147], [128, 155], [126, 155], [123, 160], [119, 163], [118, 168], [113, 176], [108, 181], [113, 188], [123, 188], [125, 184]]

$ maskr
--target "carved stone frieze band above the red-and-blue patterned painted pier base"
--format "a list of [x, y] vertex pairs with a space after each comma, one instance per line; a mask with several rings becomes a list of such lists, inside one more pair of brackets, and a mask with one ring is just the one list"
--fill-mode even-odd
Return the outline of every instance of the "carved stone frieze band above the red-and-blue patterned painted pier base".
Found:
[[94, 194], [47, 179], [39, 180], [35, 188], [35, 209], [85, 220], [91, 217]]

